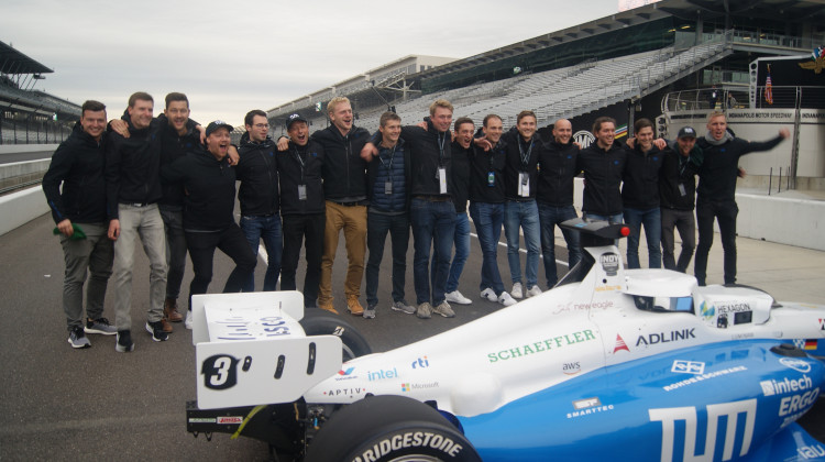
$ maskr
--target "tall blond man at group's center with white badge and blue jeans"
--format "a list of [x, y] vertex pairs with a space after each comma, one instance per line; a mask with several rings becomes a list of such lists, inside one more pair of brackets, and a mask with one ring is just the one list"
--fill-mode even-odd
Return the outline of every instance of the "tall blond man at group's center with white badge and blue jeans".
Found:
[[[413, 183], [410, 223], [415, 256], [413, 279], [418, 309], [416, 316], [429, 319], [432, 314], [452, 318], [455, 312], [446, 299], [447, 276], [455, 232], [455, 207], [452, 204], [451, 133], [453, 107], [437, 99], [430, 105], [427, 129], [418, 125], [402, 128], [402, 139], [409, 146]], [[367, 143], [361, 156], [375, 155], [374, 143]], [[430, 249], [435, 248], [436, 272], [430, 278]]]

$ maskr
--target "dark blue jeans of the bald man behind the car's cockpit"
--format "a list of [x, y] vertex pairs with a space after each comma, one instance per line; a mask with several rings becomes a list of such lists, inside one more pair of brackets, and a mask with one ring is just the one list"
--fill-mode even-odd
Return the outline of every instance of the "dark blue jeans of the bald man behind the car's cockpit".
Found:
[[[547, 276], [547, 288], [552, 288], [559, 282], [556, 271], [556, 226], [563, 221], [579, 218], [573, 206], [556, 207], [539, 202], [539, 223], [541, 223], [541, 254], [544, 261], [544, 276]], [[582, 260], [582, 249], [579, 245], [579, 232], [561, 229], [564, 241], [568, 243], [568, 268]]]

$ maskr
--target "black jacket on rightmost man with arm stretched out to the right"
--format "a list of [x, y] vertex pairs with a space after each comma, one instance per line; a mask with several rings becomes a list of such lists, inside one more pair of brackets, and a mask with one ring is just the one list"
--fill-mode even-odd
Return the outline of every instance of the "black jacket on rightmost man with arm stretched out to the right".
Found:
[[782, 142], [777, 136], [765, 142], [745, 141], [738, 138], [715, 146], [704, 138], [696, 140], [704, 158], [698, 170], [697, 202], [735, 202], [736, 178], [739, 174], [739, 157], [758, 151], [770, 151]]

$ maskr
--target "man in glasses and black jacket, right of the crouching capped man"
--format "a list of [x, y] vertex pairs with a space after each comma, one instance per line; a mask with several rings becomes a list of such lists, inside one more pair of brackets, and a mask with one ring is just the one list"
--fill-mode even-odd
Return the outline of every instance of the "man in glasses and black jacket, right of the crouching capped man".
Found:
[[[278, 170], [275, 143], [268, 135], [270, 122], [266, 112], [255, 109], [244, 118], [246, 133], [241, 136], [241, 156], [238, 162], [238, 179], [241, 188], [238, 200], [241, 202], [241, 230], [257, 255], [258, 243], [263, 239], [266, 249], [267, 266], [264, 275], [264, 290], [275, 290], [280, 274], [283, 250], [280, 213], [278, 211]], [[244, 285], [244, 292], [255, 289], [254, 274]]]

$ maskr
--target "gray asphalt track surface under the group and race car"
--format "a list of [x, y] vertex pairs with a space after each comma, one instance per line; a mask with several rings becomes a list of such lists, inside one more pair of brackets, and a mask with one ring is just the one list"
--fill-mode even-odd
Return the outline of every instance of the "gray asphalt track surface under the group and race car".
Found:
[[[262, 442], [230, 440], [223, 433], [207, 442], [204, 436], [195, 439], [186, 432], [185, 405], [196, 395], [191, 333], [176, 323], [168, 341], [153, 342], [141, 329], [148, 294], [148, 264], [142, 250], [135, 252], [133, 277], [134, 352], [117, 353], [114, 337], [95, 334], [89, 336], [90, 349], [69, 348], [61, 308], [63, 252], [52, 235], [53, 228], [51, 217], [43, 216], [0, 237], [0, 280], [4, 288], [0, 460], [267, 460]], [[388, 249], [389, 243], [382, 268], [391, 267]], [[565, 250], [557, 248], [557, 257], [565, 261]], [[410, 240], [406, 293], [407, 299], [415, 301], [411, 262]], [[498, 262], [509, 288], [504, 248], [499, 248]], [[263, 263], [258, 265], [255, 275], [260, 288], [264, 272]], [[361, 330], [374, 351], [430, 337], [502, 308], [479, 298], [481, 250], [475, 238], [460, 285], [473, 304], [453, 306], [458, 314], [453, 319], [436, 316], [421, 320], [389, 310], [389, 271], [381, 275], [377, 317], [365, 320], [349, 316], [343, 296], [345, 265], [341, 237], [332, 278], [336, 307]], [[302, 280], [302, 267], [301, 262], [298, 280]], [[231, 261], [218, 252], [210, 292], [220, 292], [231, 268]], [[558, 270], [563, 274], [566, 267], [559, 265]], [[542, 277], [543, 268], [539, 270], [539, 279]], [[190, 279], [187, 264], [180, 301], [185, 301]], [[361, 300], [365, 302], [362, 284]], [[111, 304], [110, 296], [106, 316], [113, 321]], [[816, 413], [809, 414], [809, 420], [818, 425], [821, 440], [825, 438], [823, 408], [820, 399]]]

